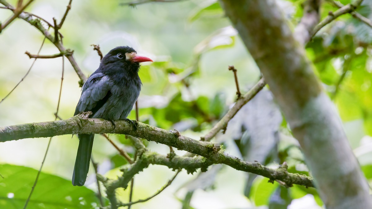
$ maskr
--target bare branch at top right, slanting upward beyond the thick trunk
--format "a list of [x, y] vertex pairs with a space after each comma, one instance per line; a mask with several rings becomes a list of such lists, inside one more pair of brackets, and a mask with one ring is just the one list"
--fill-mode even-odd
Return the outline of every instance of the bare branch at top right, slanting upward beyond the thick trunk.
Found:
[[332, 22], [337, 17], [344, 15], [346, 13], [354, 12], [354, 10], [362, 3], [363, 0], [355, 0], [353, 3], [346, 4], [345, 6], [338, 9], [336, 12], [330, 12], [327, 17], [325, 17], [317, 26], [315, 26], [312, 31], [312, 36], [314, 36], [321, 28], [323, 28], [328, 23]]

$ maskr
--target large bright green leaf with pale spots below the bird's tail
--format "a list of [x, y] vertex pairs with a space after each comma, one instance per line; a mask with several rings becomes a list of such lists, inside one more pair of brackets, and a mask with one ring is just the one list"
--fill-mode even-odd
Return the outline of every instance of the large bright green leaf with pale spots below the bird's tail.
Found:
[[[1, 164], [0, 208], [23, 208], [35, 181], [33, 168]], [[91, 209], [98, 208], [96, 194], [86, 187], [74, 187], [71, 180], [41, 173], [28, 208], [32, 209]]]

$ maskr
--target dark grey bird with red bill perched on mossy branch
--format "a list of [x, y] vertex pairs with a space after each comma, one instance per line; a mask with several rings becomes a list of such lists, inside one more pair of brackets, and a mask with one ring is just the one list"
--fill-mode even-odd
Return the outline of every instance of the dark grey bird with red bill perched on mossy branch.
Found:
[[[102, 118], [112, 123], [115, 120], [128, 120], [127, 116], [141, 91], [142, 82], [138, 75], [140, 62], [147, 61], [153, 62], [148, 57], [137, 55], [129, 46], [110, 50], [81, 88], [74, 116], [91, 111], [90, 118]], [[94, 134], [78, 134], [78, 138], [72, 184], [83, 186], [89, 170]]]

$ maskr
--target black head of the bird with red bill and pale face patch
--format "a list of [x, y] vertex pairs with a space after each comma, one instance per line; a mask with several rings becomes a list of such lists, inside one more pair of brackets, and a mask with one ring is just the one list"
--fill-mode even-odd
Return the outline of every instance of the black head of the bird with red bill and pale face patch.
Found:
[[129, 46], [118, 46], [111, 49], [109, 53], [102, 58], [102, 67], [126, 68], [127, 70], [138, 71], [140, 62], [153, 62], [148, 57], [137, 55], [137, 52]]

